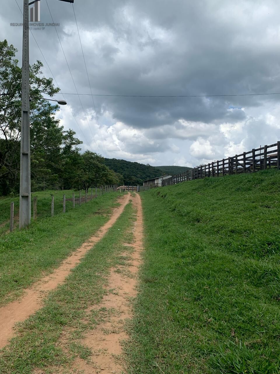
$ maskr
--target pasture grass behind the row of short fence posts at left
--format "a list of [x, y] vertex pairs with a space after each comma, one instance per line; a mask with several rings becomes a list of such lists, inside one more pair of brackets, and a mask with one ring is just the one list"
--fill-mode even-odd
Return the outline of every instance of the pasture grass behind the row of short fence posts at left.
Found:
[[[32, 192], [31, 195], [31, 217], [33, 217], [33, 198], [37, 197], [37, 219], [50, 217], [51, 215], [51, 205], [52, 205], [52, 195], [54, 196], [54, 214], [60, 214], [63, 211], [63, 194], [66, 198], [66, 211], [73, 209], [72, 206], [72, 194], [74, 190], [46, 190], [39, 192]], [[78, 204], [79, 191], [75, 191], [75, 200]], [[89, 197], [91, 190], [88, 192]], [[95, 196], [95, 189], [93, 191], [93, 196]], [[84, 203], [85, 191], [82, 191], [82, 202]], [[70, 200], [71, 199], [71, 200]], [[68, 201], [67, 201], [68, 200]], [[10, 203], [15, 203], [14, 217], [15, 217], [15, 228], [18, 227], [18, 215], [19, 215], [19, 197], [0, 197], [0, 235], [5, 234], [9, 230], [10, 222]], [[32, 218], [31, 218], [32, 219]]]

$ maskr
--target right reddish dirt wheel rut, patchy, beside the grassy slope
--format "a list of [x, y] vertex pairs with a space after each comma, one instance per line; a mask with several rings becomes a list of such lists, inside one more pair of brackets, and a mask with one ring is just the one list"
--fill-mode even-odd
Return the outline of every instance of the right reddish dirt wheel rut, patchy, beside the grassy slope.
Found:
[[[121, 341], [128, 338], [124, 329], [125, 319], [131, 318], [130, 300], [137, 293], [136, 274], [141, 264], [140, 253], [143, 246], [143, 215], [139, 194], [133, 197], [133, 204], [137, 208], [134, 243], [126, 244], [133, 248], [132, 259], [128, 262], [128, 266], [111, 269], [107, 295], [102, 303], [91, 308], [102, 310], [102, 319], [97, 327], [88, 332], [81, 341], [91, 349], [93, 355], [87, 362], [80, 358], [76, 359], [71, 371], [66, 370], [63, 373], [125, 373]], [[127, 252], [122, 255], [127, 255]]]

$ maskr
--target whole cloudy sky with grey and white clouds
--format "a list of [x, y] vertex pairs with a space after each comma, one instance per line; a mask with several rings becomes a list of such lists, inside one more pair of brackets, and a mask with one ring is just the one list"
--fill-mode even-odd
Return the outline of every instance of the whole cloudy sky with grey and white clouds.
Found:
[[[10, 26], [22, 22], [16, 1], [22, 9], [22, 0], [1, 1], [0, 39], [21, 60], [22, 27]], [[44, 23], [52, 22], [47, 4], [74, 82], [54, 27], [32, 30], [46, 61], [31, 35], [30, 63], [40, 59], [44, 75], [53, 74], [65, 93], [69, 105], [58, 117], [77, 132], [83, 150], [196, 166], [280, 140], [280, 95], [68, 95], [280, 92], [278, 0], [75, 0], [91, 91], [72, 4], [41, 0]]]

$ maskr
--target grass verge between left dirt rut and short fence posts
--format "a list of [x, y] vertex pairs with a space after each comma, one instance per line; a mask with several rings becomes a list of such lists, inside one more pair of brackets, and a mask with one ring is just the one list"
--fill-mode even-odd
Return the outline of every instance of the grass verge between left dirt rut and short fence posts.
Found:
[[[58, 191], [55, 195], [56, 206], [63, 192]], [[72, 196], [72, 191], [68, 191], [68, 195]], [[0, 305], [21, 295], [22, 289], [39, 279], [42, 272], [47, 274], [59, 266], [62, 260], [105, 224], [112, 207], [116, 206], [118, 196], [117, 193], [106, 193], [87, 204], [75, 206], [75, 209], [66, 206], [65, 214], [61, 209], [54, 217], [31, 221], [25, 230], [1, 235]], [[40, 193], [38, 212], [39, 206], [43, 210], [49, 207], [49, 202], [50, 193]]]

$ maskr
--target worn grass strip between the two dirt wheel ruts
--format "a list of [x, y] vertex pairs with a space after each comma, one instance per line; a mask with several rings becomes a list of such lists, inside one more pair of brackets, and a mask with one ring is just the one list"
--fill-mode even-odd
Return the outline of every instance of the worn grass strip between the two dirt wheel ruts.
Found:
[[[112, 194], [100, 200], [112, 200]], [[86, 360], [91, 355], [90, 349], [79, 342], [86, 331], [97, 325], [104, 310], [97, 308], [87, 312], [86, 309], [98, 304], [104, 296], [110, 267], [123, 263], [121, 254], [129, 251], [123, 243], [133, 239], [134, 221], [134, 209], [129, 203], [106, 235], [72, 270], [66, 282], [50, 292], [42, 309], [23, 322], [18, 336], [0, 351], [1, 374], [66, 373], [62, 370], [64, 365], [71, 365], [78, 357]], [[62, 349], [62, 345], [66, 349]], [[78, 372], [82, 373], [75, 371]]]

